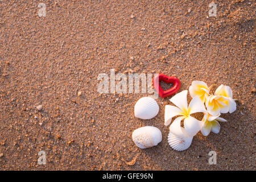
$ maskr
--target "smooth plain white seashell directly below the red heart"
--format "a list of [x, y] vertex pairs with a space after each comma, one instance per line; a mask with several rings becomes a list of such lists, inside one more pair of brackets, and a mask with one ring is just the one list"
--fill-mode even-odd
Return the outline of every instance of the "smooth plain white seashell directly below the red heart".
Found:
[[159, 111], [158, 103], [151, 97], [140, 98], [134, 106], [134, 115], [141, 119], [154, 118]]

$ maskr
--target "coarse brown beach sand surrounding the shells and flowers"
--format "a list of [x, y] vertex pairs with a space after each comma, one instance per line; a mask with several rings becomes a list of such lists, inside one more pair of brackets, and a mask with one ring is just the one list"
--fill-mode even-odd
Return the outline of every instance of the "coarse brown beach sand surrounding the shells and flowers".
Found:
[[[0, 1], [1, 170], [255, 170], [254, 1], [218, 1], [216, 17], [210, 1], [44, 3], [39, 17], [38, 1]], [[164, 126], [171, 97], [156, 100], [155, 118], [135, 118], [147, 94], [97, 92], [110, 69], [176, 76], [180, 91], [225, 84], [237, 110], [222, 115], [219, 134], [199, 132], [177, 152]], [[142, 126], [158, 127], [162, 142], [137, 148], [131, 134]]]

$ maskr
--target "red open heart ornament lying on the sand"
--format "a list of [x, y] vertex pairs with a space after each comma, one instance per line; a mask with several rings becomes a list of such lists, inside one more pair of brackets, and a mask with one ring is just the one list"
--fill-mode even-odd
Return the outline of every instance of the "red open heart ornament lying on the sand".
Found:
[[[164, 81], [166, 83], [172, 83], [174, 84], [174, 86], [172, 86], [172, 88], [168, 89], [168, 90], [163, 90], [163, 88], [160, 86], [160, 81]], [[176, 77], [173, 76], [167, 76], [164, 75], [163, 73], [159, 73], [158, 75], [156, 75], [153, 80], [153, 85], [155, 90], [158, 92], [159, 96], [162, 98], [171, 96], [172, 94], [176, 93], [177, 90], [180, 89], [180, 80]]]

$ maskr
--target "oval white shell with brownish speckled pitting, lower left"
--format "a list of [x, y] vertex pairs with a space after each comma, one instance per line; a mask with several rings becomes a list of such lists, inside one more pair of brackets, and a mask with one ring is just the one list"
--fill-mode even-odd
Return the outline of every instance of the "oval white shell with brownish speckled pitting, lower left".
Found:
[[162, 133], [157, 127], [144, 126], [134, 130], [132, 138], [137, 147], [149, 148], [162, 141]]

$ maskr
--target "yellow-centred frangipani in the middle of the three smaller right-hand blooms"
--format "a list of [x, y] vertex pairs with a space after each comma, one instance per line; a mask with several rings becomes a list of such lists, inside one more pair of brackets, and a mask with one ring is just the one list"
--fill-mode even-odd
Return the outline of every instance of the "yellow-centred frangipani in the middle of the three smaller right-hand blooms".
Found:
[[220, 113], [228, 113], [229, 106], [228, 104], [226, 104], [227, 102], [228, 98], [224, 96], [210, 95], [205, 101], [205, 106], [207, 107], [207, 111], [209, 114], [219, 115]]

